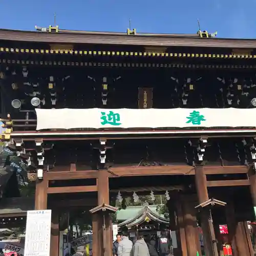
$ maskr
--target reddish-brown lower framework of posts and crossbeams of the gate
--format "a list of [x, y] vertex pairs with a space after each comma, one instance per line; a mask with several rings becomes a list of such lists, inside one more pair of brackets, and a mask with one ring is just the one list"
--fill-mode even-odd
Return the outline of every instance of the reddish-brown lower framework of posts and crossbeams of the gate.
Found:
[[[251, 189], [255, 189], [256, 183], [250, 180], [225, 180], [225, 181], [207, 181], [207, 175], [220, 175], [220, 174], [247, 174], [250, 168], [247, 166], [207, 166], [207, 167], [195, 167], [189, 166], [157, 166], [157, 167], [116, 167], [108, 170], [78, 170], [76, 171], [75, 164], [71, 164], [70, 172], [61, 172], [61, 170], [54, 170], [48, 172], [44, 176], [44, 180], [37, 181], [36, 183], [36, 197], [35, 197], [35, 209], [47, 208], [47, 195], [48, 194], [60, 194], [60, 193], [81, 193], [97, 191], [97, 204], [98, 206], [109, 205], [110, 202], [110, 189], [109, 179], [117, 179], [118, 177], [125, 176], [157, 176], [157, 175], [189, 175], [195, 177], [195, 183], [197, 187], [197, 195], [184, 195], [179, 193], [170, 194], [172, 200], [169, 203], [170, 212], [170, 229], [176, 230], [178, 234], [178, 248], [174, 249], [175, 255], [195, 255], [200, 252], [200, 243], [197, 229], [197, 211], [196, 206], [201, 203], [210, 201], [210, 205], [221, 204], [218, 200], [209, 200], [207, 187], [223, 187], [223, 186], [250, 186]], [[255, 175], [255, 174], [253, 174]], [[251, 178], [254, 176], [251, 176]], [[97, 185], [94, 186], [75, 186], [75, 187], [49, 187], [48, 183], [56, 180], [72, 180], [72, 179], [97, 179]], [[218, 195], [218, 194], [217, 194]], [[229, 236], [232, 241], [232, 250], [234, 255], [253, 255], [252, 243], [249, 236], [249, 230], [247, 221], [236, 221], [234, 216], [234, 208], [232, 199], [228, 194], [221, 196], [222, 200], [228, 201], [227, 206], [221, 209], [221, 214], [227, 217], [227, 225], [229, 230]], [[219, 199], [219, 198], [218, 198]], [[106, 206], [108, 207], [108, 206]], [[113, 209], [112, 209], [113, 210]], [[114, 209], [115, 210], [115, 209]], [[175, 214], [174, 214], [175, 213]], [[54, 221], [58, 216], [57, 211], [53, 211], [52, 216], [52, 232], [51, 237], [51, 255], [56, 255], [59, 248], [58, 223]], [[216, 216], [217, 217], [217, 216]], [[104, 248], [104, 253], [110, 255], [112, 253], [112, 227], [111, 219], [106, 218], [106, 227], [102, 230], [101, 215], [93, 214], [93, 253], [101, 254], [99, 250]], [[177, 220], [175, 220], [177, 219]], [[221, 219], [223, 219], [221, 217]], [[209, 217], [209, 209], [203, 209], [200, 217], [202, 223], [202, 229], [204, 234], [204, 243], [206, 247], [206, 255], [218, 255], [215, 254], [215, 250], [222, 251], [222, 246], [217, 244], [215, 238], [215, 232], [212, 231], [213, 225], [211, 218]], [[219, 233], [219, 224], [223, 224], [223, 220], [213, 219], [215, 225], [216, 236]], [[99, 235], [100, 234], [100, 235]], [[104, 241], [103, 236], [110, 238], [109, 241]], [[106, 242], [106, 244], [104, 244]], [[101, 246], [99, 246], [101, 245]], [[201, 252], [200, 252], [201, 253]], [[105, 254], [104, 254], [105, 255]]]

